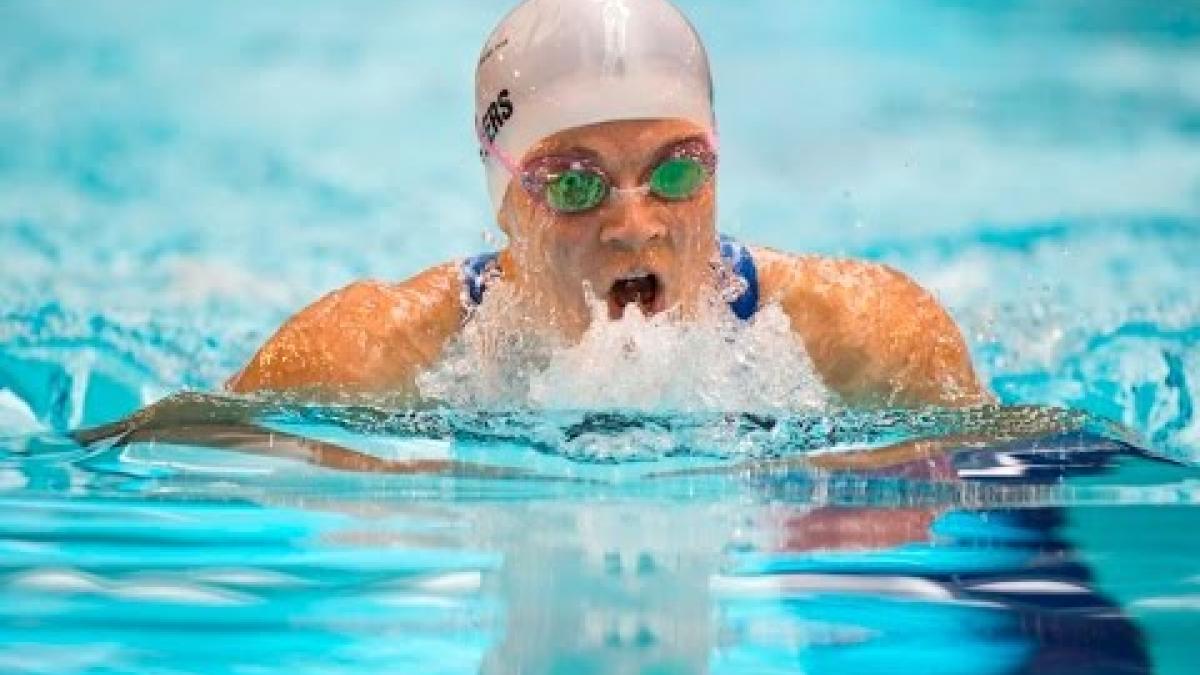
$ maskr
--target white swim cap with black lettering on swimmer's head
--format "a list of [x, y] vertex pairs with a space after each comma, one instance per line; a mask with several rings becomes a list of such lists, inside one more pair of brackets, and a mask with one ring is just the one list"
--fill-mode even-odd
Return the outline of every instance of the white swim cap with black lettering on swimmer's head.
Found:
[[475, 132], [497, 210], [509, 165], [542, 138], [655, 118], [715, 131], [704, 46], [666, 0], [526, 0], [480, 53]]

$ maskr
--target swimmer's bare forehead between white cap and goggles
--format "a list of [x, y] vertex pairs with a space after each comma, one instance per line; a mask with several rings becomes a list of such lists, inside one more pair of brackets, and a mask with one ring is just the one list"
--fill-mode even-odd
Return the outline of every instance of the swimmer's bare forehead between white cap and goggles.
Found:
[[539, 141], [527, 157], [589, 150], [604, 156], [640, 156], [685, 138], [704, 136], [704, 127], [680, 119], [617, 120], [568, 129]]

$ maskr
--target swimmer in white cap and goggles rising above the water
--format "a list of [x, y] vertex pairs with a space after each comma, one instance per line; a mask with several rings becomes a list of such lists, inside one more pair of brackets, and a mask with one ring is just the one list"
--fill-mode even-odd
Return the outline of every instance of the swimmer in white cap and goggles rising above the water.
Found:
[[632, 307], [752, 322], [774, 304], [845, 405], [992, 401], [953, 319], [902, 273], [720, 235], [708, 60], [666, 0], [526, 0], [484, 44], [474, 121], [508, 246], [330, 293], [230, 392], [419, 404], [418, 375], [504, 288], [509, 312], [566, 341]]

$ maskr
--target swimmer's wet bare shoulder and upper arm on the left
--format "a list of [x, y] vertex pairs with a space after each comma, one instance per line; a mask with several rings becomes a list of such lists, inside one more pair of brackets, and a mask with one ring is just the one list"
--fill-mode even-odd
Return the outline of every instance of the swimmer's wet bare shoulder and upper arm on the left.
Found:
[[414, 402], [418, 372], [462, 324], [460, 283], [448, 263], [400, 283], [359, 281], [335, 291], [288, 319], [226, 387]]

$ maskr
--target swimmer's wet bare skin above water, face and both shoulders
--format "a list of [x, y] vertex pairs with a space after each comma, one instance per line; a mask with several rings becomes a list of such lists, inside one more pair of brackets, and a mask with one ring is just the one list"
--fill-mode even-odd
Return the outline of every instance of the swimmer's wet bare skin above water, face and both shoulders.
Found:
[[[616, 187], [637, 187], [679, 143], [703, 130], [683, 120], [612, 121], [556, 133], [522, 166], [584, 156]], [[716, 180], [691, 199], [622, 193], [582, 214], [558, 214], [510, 184], [497, 220], [509, 237], [499, 268], [512, 316], [577, 340], [592, 321], [586, 288], [610, 318], [640, 300], [680, 321], [715, 297]], [[962, 335], [926, 291], [892, 268], [754, 247], [760, 304], [778, 303], [826, 386], [847, 405], [971, 406], [991, 401]], [[284, 392], [314, 399], [420, 401], [416, 375], [432, 365], [467, 318], [456, 262], [398, 283], [360, 281], [292, 317], [228, 383], [234, 393]], [[653, 292], [622, 280], [653, 275]], [[515, 322], [514, 330], [520, 330]]]

